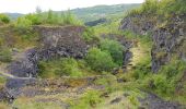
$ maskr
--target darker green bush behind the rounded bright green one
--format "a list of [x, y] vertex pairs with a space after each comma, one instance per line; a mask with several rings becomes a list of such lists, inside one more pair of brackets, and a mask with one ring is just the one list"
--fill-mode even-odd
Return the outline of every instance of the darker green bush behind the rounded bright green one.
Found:
[[117, 63], [118, 65], [123, 65], [123, 60], [124, 60], [123, 52], [125, 51], [123, 45], [120, 45], [116, 40], [105, 39], [101, 41], [100, 47], [103, 51], [107, 51], [111, 53], [115, 63]]

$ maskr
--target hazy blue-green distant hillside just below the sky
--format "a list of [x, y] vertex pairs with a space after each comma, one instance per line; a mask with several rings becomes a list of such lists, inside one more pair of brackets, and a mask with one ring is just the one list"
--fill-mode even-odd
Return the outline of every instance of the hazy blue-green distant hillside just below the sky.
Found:
[[71, 10], [78, 19], [83, 22], [95, 21], [102, 17], [109, 17], [112, 15], [124, 14], [127, 10], [135, 9], [139, 7], [139, 3], [136, 4], [115, 4], [115, 5], [96, 5], [92, 8], [74, 9]]

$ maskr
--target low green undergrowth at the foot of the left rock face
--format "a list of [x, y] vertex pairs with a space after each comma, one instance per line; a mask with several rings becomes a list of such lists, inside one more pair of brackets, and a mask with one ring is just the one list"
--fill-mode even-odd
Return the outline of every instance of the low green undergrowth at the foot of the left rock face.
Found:
[[72, 58], [39, 62], [39, 76], [60, 77], [60, 76], [83, 76], [78, 62]]

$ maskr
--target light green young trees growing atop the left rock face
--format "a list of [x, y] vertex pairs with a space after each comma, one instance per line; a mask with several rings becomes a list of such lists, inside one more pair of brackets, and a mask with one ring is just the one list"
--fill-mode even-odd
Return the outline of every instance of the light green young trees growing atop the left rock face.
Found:
[[42, 12], [37, 9], [36, 13], [21, 16], [14, 23], [15, 27], [27, 28], [32, 25], [81, 25], [81, 22], [71, 14], [70, 11], [58, 14], [51, 10]]

